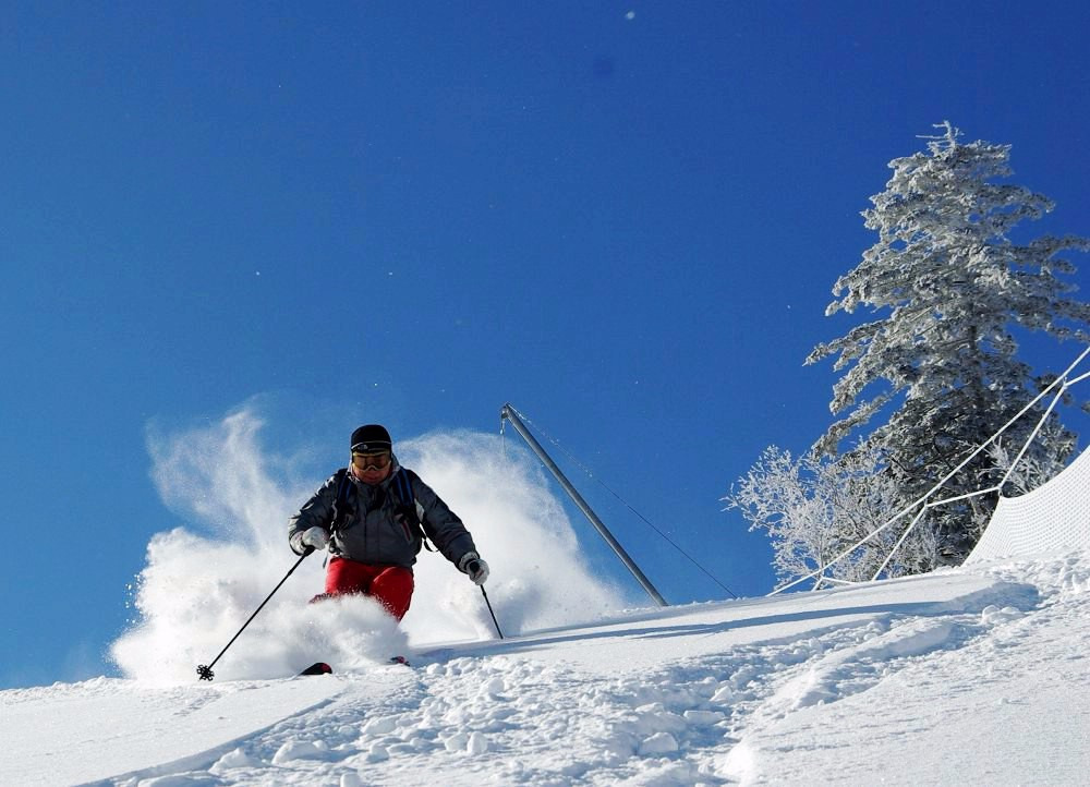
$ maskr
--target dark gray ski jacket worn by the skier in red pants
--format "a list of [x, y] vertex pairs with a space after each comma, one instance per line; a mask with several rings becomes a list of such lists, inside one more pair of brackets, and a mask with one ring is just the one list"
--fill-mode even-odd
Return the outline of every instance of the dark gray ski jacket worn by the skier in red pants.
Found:
[[[467, 553], [476, 552], [473, 536], [462, 520], [416, 473], [402, 468], [395, 458], [389, 476], [374, 486], [348, 472], [344, 483], [350, 485], [346, 489], [349, 514], [342, 514], [340, 526], [330, 535], [329, 553], [359, 562], [412, 568], [423, 542], [419, 530], [398, 512], [400, 498], [391, 484], [398, 471], [408, 474], [416, 514], [436, 549], [455, 566]], [[302, 555], [306, 548], [301, 543], [303, 533], [314, 526], [330, 529], [337, 487], [335, 473], [288, 520], [288, 543], [296, 555]]]

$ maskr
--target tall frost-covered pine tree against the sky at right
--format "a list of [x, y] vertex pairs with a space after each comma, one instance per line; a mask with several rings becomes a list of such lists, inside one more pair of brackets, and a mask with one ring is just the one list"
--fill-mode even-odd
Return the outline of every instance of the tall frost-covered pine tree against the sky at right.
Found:
[[[1016, 329], [1087, 340], [1090, 305], [1074, 300], [1061, 279], [1075, 271], [1063, 252], [1090, 250], [1090, 240], [1044, 235], [1016, 242], [1024, 219], [1052, 210], [1052, 202], [1008, 178], [1010, 147], [961, 144], [945, 122], [927, 137], [927, 153], [889, 164], [886, 190], [863, 211], [879, 241], [833, 289], [839, 300], [827, 315], [860, 306], [888, 314], [820, 344], [807, 359], [835, 355], [846, 370], [835, 384], [831, 410], [847, 413], [818, 441], [835, 455], [850, 436], [879, 450], [883, 472], [901, 500], [927, 493], [977, 446], [991, 437], [1051, 382], [1017, 356]], [[880, 413], [888, 421], [865, 434]], [[1020, 445], [1036, 419], [1024, 419], [1007, 439]], [[1032, 461], [1057, 467], [1075, 447], [1075, 435], [1051, 416], [1046, 436], [1034, 441]], [[858, 450], [853, 448], [851, 450]], [[996, 453], [981, 453], [945, 488], [944, 497], [995, 484], [1003, 468]], [[929, 525], [948, 561], [968, 553], [986, 525], [994, 496], [933, 509]], [[921, 567], [927, 568], [927, 567]]]

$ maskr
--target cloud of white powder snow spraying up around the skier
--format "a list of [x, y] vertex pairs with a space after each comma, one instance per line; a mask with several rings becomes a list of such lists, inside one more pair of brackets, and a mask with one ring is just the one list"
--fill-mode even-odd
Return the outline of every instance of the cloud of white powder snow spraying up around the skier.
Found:
[[[247, 408], [210, 426], [149, 437], [159, 494], [192, 524], [148, 544], [133, 588], [135, 616], [111, 646], [126, 677], [193, 681], [193, 665], [219, 652], [293, 559], [288, 518], [340, 457], [330, 450], [328, 468], [304, 479], [287, 455], [261, 444], [263, 426]], [[589, 622], [626, 606], [586, 566], [560, 503], [525, 452], [504, 451], [499, 437], [474, 432], [396, 441], [395, 452], [473, 534], [508, 633]], [[217, 680], [286, 677], [315, 661], [362, 668], [412, 646], [496, 635], [477, 588], [441, 556], [421, 553], [414, 572], [412, 606], [398, 626], [363, 596], [310, 604], [324, 586], [323, 560], [312, 556], [232, 645]]]

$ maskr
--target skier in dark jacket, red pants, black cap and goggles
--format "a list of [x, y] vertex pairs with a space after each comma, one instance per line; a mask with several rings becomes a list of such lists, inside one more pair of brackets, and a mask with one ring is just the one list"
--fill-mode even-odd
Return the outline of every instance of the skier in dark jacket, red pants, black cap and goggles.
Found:
[[352, 433], [352, 458], [289, 520], [288, 543], [296, 555], [329, 548], [325, 593], [312, 602], [350, 593], [378, 600], [398, 620], [412, 601], [416, 554], [426, 536], [477, 585], [488, 579], [473, 536], [458, 516], [416, 473], [399, 464], [386, 427]]

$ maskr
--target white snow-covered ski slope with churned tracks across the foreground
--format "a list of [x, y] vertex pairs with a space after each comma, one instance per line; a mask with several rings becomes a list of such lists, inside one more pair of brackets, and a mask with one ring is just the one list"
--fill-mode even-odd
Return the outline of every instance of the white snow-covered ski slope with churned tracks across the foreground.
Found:
[[1088, 654], [1090, 554], [1040, 555], [411, 667], [8, 690], [0, 784], [1086, 784]]

